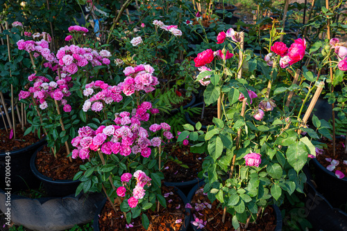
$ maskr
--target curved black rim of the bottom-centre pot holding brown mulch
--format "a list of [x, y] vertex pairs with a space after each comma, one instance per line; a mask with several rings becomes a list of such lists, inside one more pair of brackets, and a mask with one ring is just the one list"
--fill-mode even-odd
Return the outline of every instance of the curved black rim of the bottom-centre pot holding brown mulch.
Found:
[[[164, 183], [166, 186], [174, 186], [175, 189], [174, 191], [180, 196], [180, 198], [183, 201], [183, 204], [187, 204], [188, 200], [185, 194], [183, 194], [182, 191], [180, 191], [175, 185], [172, 185], [171, 183]], [[94, 216], [94, 221], [93, 221], [93, 228], [94, 231], [100, 231], [99, 228], [99, 214], [101, 213], [101, 210], [103, 210], [103, 206], [105, 206], [105, 203], [107, 201], [107, 198], [105, 198], [98, 206], [98, 209], [96, 210], [96, 214]], [[124, 218], [125, 219], [125, 218]], [[185, 208], [185, 223], [181, 226], [180, 231], [186, 231], [190, 223], [190, 209]]]

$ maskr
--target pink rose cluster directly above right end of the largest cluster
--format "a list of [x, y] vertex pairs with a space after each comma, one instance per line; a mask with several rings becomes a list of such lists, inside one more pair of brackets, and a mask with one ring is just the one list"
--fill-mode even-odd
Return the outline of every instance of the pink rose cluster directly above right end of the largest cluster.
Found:
[[153, 76], [154, 68], [149, 64], [139, 64], [135, 67], [127, 66], [124, 69], [126, 79], [118, 84], [125, 95], [133, 95], [135, 91], [154, 91], [154, 86], [159, 84], [158, 78]]

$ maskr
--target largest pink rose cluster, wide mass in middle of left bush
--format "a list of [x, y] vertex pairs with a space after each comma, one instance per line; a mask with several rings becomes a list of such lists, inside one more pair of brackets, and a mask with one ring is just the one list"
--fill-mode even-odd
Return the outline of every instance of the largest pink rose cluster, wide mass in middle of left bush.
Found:
[[[78, 130], [78, 136], [71, 141], [72, 146], [76, 147], [72, 151], [72, 158], [81, 159], [89, 158], [90, 151], [98, 151], [100, 148], [104, 154], [121, 154], [121, 156], [129, 156], [130, 154], [141, 154], [144, 158], [151, 156], [151, 148], [159, 147], [162, 138], [154, 137], [149, 140], [149, 132], [141, 127], [141, 121], [149, 120], [147, 110], [151, 109], [150, 102], [143, 102], [130, 113], [123, 111], [116, 114], [114, 120], [116, 125], [100, 126], [95, 131], [90, 127], [82, 127]], [[163, 135], [167, 140], [172, 138], [169, 131], [169, 124], [153, 124], [150, 130], [155, 132], [162, 129]]]

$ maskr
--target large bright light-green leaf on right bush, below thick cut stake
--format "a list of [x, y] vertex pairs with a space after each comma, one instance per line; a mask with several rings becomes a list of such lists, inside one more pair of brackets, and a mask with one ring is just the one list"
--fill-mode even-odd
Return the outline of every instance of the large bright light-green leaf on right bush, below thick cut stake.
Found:
[[287, 160], [291, 167], [294, 167], [296, 172], [300, 172], [307, 160], [307, 149], [301, 141], [289, 145], [287, 149]]

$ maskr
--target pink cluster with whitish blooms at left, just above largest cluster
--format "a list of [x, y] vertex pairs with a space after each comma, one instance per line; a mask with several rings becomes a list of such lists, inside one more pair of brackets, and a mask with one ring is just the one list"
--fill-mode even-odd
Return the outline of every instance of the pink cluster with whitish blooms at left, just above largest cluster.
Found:
[[[94, 94], [94, 95], [93, 95]], [[83, 95], [92, 97], [85, 100], [83, 104], [83, 111], [101, 111], [104, 104], [111, 104], [112, 102], [120, 102], [123, 100], [121, 96], [121, 88], [119, 86], [109, 86], [101, 80], [96, 80], [90, 84], [85, 85], [85, 90], [83, 90]]]

